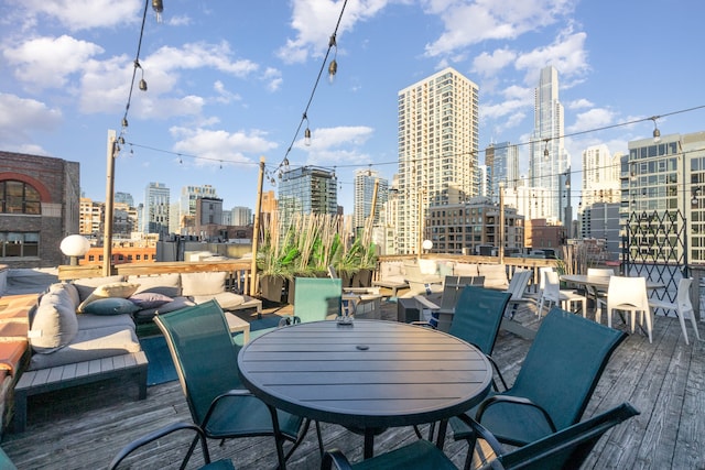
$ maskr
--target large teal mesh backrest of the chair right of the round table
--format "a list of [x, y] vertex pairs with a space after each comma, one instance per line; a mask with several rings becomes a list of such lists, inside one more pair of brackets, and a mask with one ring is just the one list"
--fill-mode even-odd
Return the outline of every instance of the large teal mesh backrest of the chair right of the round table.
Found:
[[553, 307], [511, 387], [562, 429], [577, 423], [611, 353], [627, 334]]

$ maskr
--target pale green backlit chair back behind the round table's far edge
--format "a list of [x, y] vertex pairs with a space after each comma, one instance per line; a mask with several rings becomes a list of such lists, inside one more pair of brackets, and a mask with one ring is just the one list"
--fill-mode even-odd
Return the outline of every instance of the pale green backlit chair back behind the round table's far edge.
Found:
[[343, 281], [326, 277], [296, 277], [294, 316], [302, 323], [338, 317], [343, 303]]

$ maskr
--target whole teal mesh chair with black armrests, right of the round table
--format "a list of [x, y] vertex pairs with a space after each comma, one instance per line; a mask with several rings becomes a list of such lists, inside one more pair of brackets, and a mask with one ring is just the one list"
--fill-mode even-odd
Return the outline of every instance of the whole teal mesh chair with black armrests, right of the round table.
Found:
[[[524, 446], [577, 423], [607, 362], [627, 334], [553, 307], [529, 348], [513, 385], [491, 393], [470, 417], [500, 442]], [[455, 439], [466, 424], [451, 419]]]

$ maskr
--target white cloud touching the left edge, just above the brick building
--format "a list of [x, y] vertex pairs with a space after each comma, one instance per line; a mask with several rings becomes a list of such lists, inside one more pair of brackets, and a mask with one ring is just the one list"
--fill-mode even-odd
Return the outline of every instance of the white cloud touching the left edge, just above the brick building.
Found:
[[52, 131], [62, 123], [62, 112], [34, 99], [0, 92], [0, 142], [9, 144], [31, 141], [31, 133]]

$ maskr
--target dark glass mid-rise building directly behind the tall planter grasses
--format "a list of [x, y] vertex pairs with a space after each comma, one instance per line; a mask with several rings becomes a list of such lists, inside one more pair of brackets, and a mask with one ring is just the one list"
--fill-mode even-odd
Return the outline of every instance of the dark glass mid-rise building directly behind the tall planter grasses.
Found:
[[282, 220], [291, 220], [294, 214], [336, 215], [337, 184], [335, 173], [326, 168], [303, 166], [283, 172], [279, 185]]

